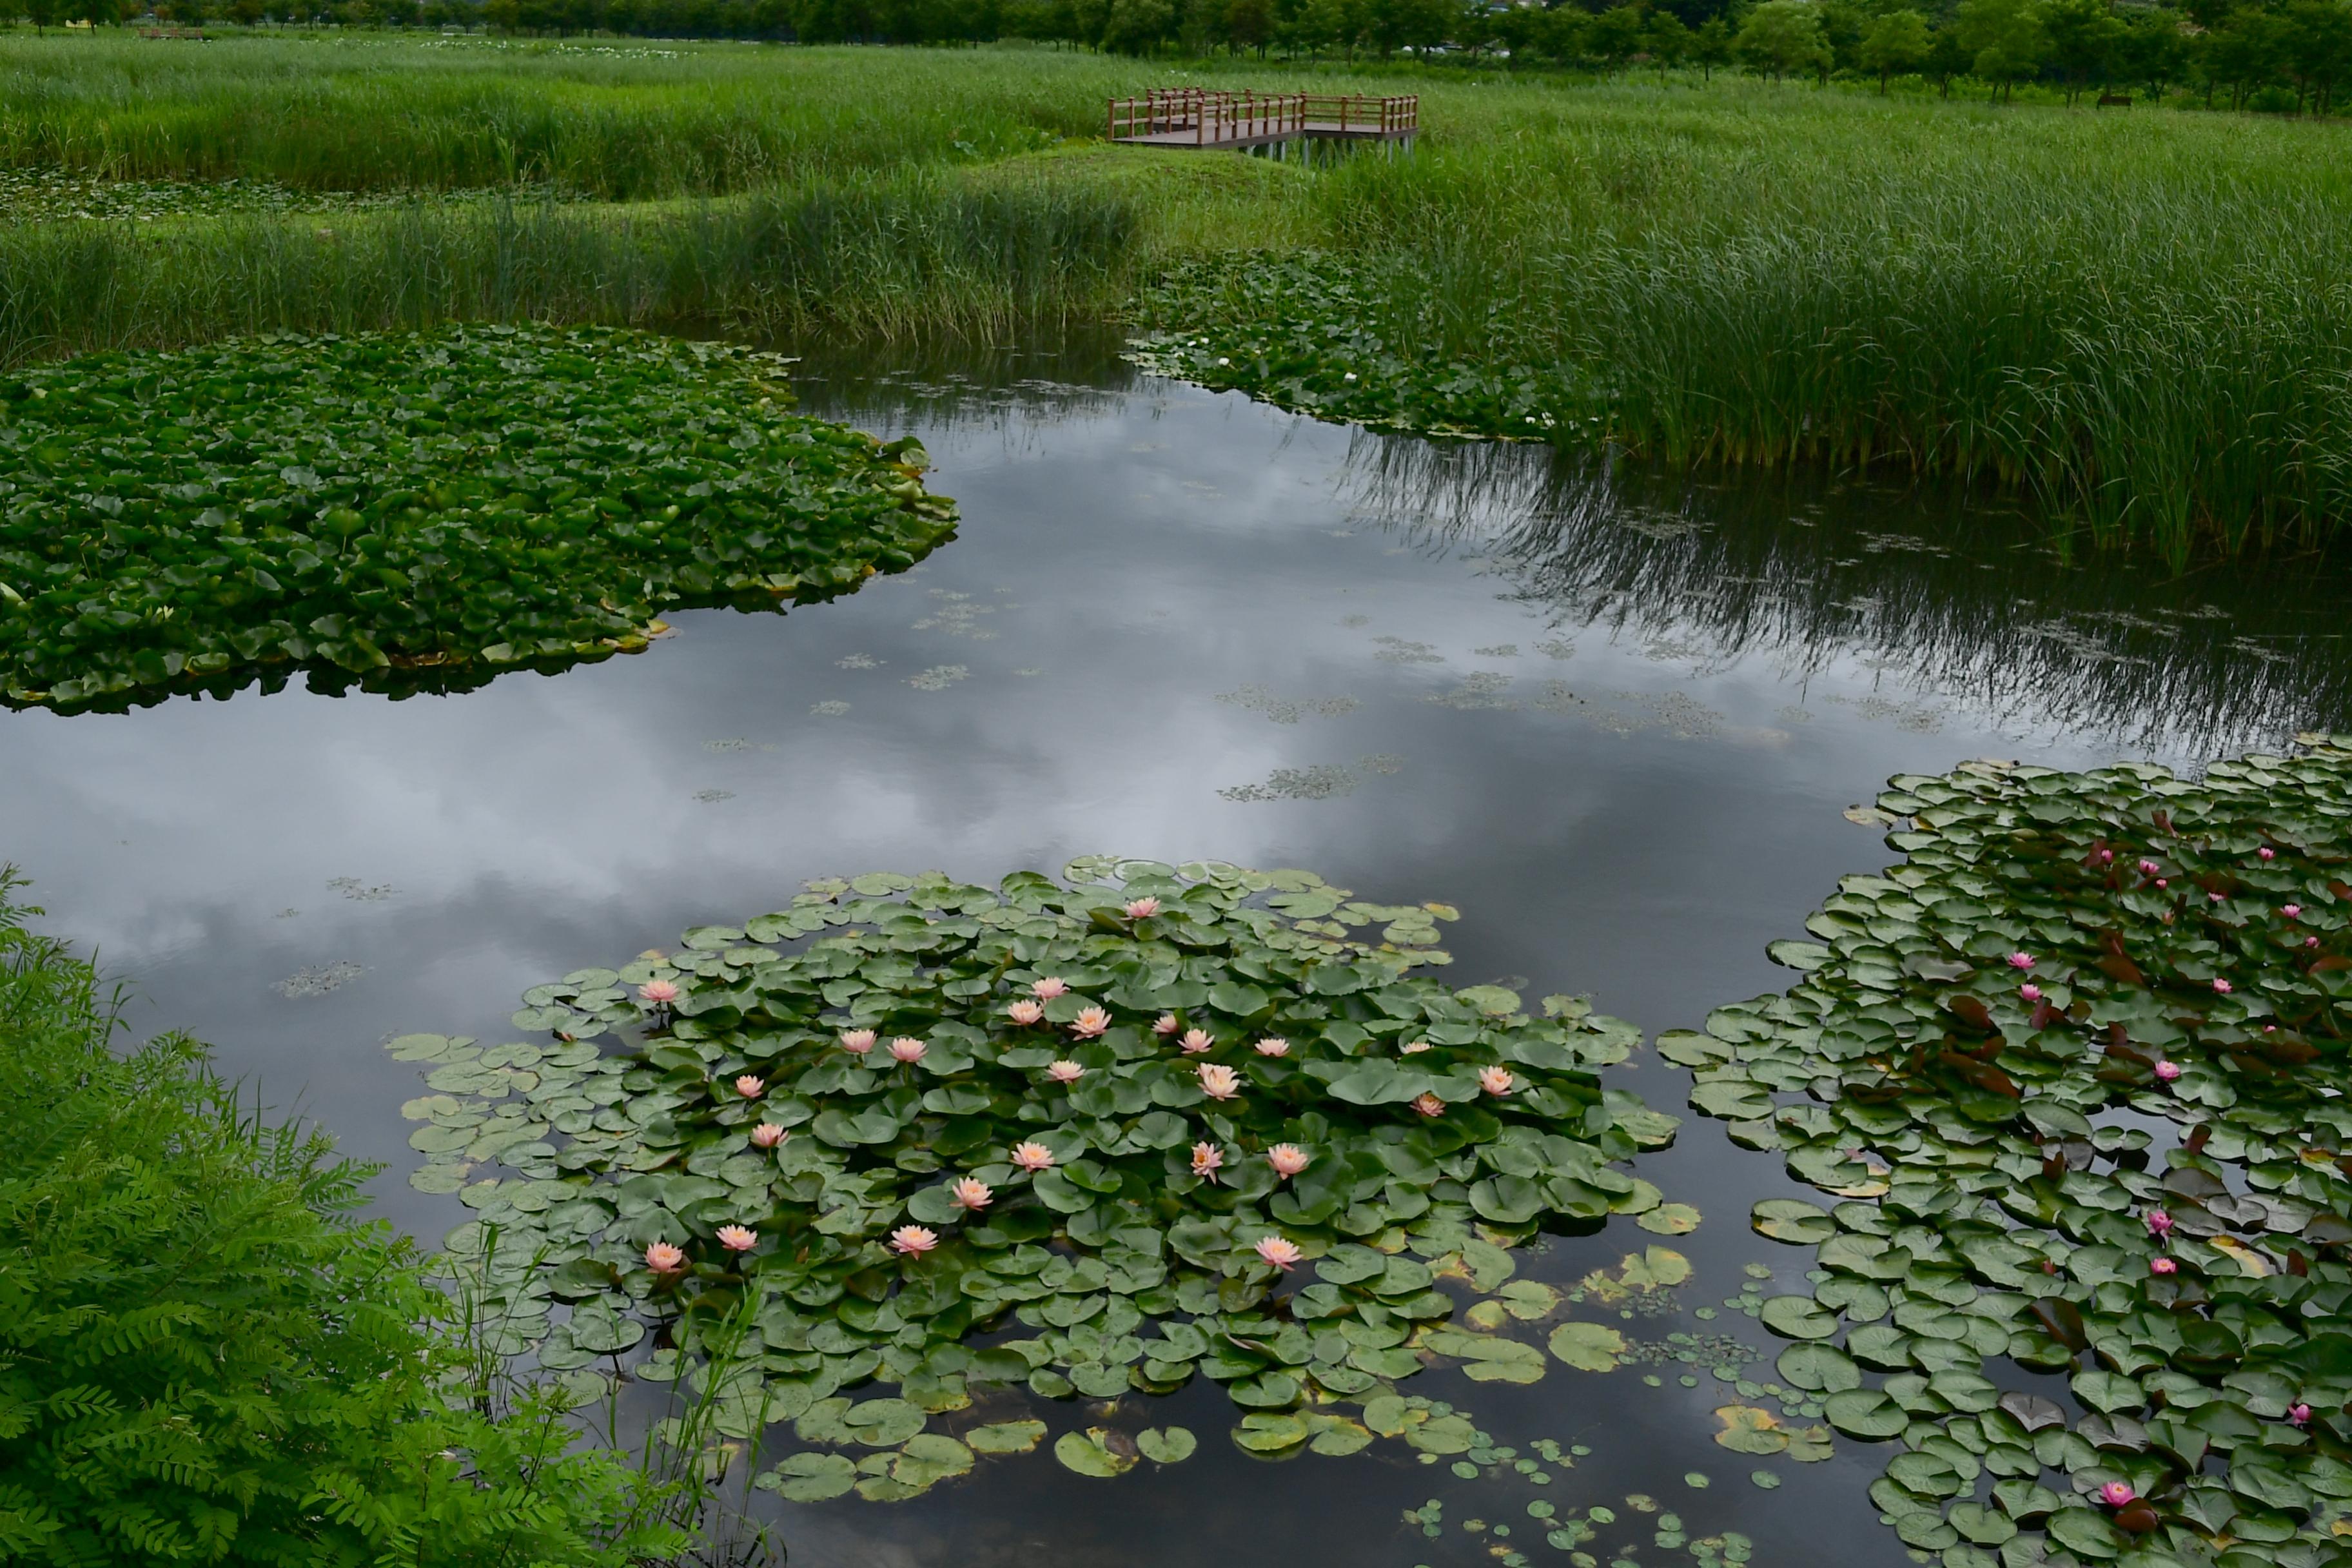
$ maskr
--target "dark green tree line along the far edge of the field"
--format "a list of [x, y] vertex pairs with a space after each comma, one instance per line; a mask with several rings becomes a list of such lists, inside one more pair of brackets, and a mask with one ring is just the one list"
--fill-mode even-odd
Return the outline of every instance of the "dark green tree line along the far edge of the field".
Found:
[[[0, 21], [118, 24], [148, 0], [0, 0]], [[1454, 61], [1505, 71], [1750, 71], [2039, 82], [2206, 106], [2331, 113], [2352, 0], [153, 0], [162, 21], [489, 26], [524, 35], [957, 45], [1033, 40], [1136, 56]]]

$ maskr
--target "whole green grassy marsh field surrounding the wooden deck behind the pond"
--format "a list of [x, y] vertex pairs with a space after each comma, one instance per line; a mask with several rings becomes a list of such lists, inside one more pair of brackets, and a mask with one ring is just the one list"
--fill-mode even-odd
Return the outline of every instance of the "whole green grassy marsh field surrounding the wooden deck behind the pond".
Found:
[[[416, 200], [0, 228], [0, 355], [449, 315], [1000, 341], [1141, 315], [1202, 378], [1345, 416], [1896, 463], [2180, 559], [2352, 517], [2340, 127], [1432, 75], [1409, 160], [1084, 146], [1105, 96], [1169, 80], [1298, 73], [16, 35], [0, 165]], [[517, 197], [430, 200], [480, 186]]]

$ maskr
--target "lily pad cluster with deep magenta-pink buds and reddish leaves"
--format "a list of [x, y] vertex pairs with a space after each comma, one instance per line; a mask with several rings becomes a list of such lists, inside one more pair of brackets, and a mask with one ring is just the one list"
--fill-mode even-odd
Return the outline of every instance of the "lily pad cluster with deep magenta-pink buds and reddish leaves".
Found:
[[2352, 1561], [2352, 741], [1879, 806], [1804, 980], [1661, 1037], [1842, 1199], [1755, 1206], [1818, 1258], [1780, 1375], [1950, 1568]]

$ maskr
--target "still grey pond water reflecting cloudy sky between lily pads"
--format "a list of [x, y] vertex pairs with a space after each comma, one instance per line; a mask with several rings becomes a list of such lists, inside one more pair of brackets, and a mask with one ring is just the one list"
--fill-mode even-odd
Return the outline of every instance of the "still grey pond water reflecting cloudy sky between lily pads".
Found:
[[[1893, 773], [2194, 766], [2352, 726], [2326, 562], [2070, 564], [1983, 503], [1371, 437], [1101, 346], [800, 369], [809, 411], [924, 442], [955, 543], [833, 604], [680, 614], [642, 656], [463, 696], [0, 715], [7, 853], [52, 929], [127, 980], [134, 1027], [216, 1041], [383, 1161], [419, 1234], [463, 1208], [405, 1182], [421, 1091], [386, 1039], [517, 1037], [524, 987], [811, 877], [1310, 867], [1456, 905], [1449, 983], [1656, 1034], [1788, 985], [1764, 947], [1893, 858], [1870, 809]], [[1748, 1229], [1802, 1190], [1689, 1114], [1653, 1048], [1609, 1081], [1684, 1114], [1637, 1173], [1700, 1220], [1522, 1258], [1621, 1314], [1628, 1366], [1414, 1380], [1508, 1453], [1277, 1467], [1195, 1382], [1152, 1413], [1202, 1434], [1181, 1465], [1094, 1481], [1040, 1450], [913, 1502], [783, 1505], [795, 1561], [1903, 1561], [1867, 1497], [1884, 1450], [1717, 1441], [1719, 1408], [1802, 1403], [1771, 1392], [1755, 1312], [1806, 1288], [1806, 1255]], [[1658, 1284], [1625, 1288], [1635, 1255]]]

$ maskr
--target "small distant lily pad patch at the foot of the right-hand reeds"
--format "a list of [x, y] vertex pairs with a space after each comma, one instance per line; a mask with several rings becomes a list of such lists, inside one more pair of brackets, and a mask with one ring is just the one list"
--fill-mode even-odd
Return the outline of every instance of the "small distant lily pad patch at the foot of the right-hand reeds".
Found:
[[1517, 350], [1505, 334], [1477, 360], [1442, 357], [1383, 331], [1383, 294], [1359, 261], [1317, 252], [1185, 261], [1143, 292], [1136, 310], [1150, 331], [1129, 360], [1376, 430], [1599, 437], [1604, 404], [1557, 353]]

